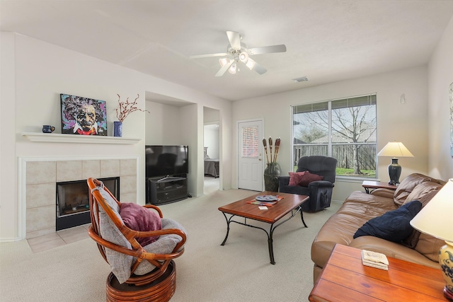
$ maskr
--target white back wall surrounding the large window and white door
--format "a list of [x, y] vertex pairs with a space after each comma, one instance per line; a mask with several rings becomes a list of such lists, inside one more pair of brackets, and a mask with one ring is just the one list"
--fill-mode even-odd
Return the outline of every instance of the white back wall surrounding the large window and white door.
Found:
[[[264, 118], [264, 137], [280, 137], [279, 160], [282, 173], [291, 170], [291, 105], [377, 93], [378, 149], [389, 141], [402, 141], [415, 158], [400, 158], [401, 178], [413, 172], [428, 173], [428, 73], [427, 66], [377, 74], [360, 79], [329, 83], [252, 98], [233, 103], [233, 124], [238, 120]], [[401, 94], [406, 103], [401, 104]], [[278, 106], [275, 106], [275, 104]], [[233, 166], [237, 165], [237, 135], [233, 132]], [[389, 178], [389, 158], [378, 158], [378, 177]], [[237, 187], [236, 171], [232, 173]], [[352, 190], [362, 190], [361, 182], [336, 181], [333, 199], [343, 201]]]

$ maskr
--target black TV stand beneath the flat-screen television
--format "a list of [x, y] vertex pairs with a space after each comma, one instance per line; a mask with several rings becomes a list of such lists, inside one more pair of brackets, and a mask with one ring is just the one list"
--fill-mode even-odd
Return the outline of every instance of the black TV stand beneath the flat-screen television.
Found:
[[166, 175], [147, 178], [147, 203], [169, 204], [188, 197], [186, 175]]

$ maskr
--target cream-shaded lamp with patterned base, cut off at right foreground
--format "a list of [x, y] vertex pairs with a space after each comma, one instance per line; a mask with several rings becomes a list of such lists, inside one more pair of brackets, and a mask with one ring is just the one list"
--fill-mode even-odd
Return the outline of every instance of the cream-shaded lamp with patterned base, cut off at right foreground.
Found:
[[439, 264], [445, 279], [444, 296], [453, 301], [453, 178], [435, 194], [411, 220], [411, 226], [422, 233], [445, 240], [439, 250]]

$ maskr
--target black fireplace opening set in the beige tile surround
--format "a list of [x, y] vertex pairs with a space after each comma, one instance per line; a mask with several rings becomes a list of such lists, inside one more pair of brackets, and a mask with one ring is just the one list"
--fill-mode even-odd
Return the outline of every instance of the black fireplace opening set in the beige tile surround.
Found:
[[[116, 199], [120, 197], [120, 178], [99, 178]], [[56, 231], [91, 223], [86, 180], [57, 182]]]

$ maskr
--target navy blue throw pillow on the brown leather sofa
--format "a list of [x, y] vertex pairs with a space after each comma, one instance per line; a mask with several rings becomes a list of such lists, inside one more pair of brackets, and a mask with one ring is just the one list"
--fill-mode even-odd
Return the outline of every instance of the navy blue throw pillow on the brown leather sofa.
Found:
[[410, 221], [420, 209], [422, 209], [422, 203], [418, 200], [403, 204], [394, 211], [369, 219], [353, 237], [374, 236], [399, 243], [411, 235], [413, 228]]

